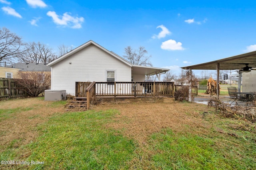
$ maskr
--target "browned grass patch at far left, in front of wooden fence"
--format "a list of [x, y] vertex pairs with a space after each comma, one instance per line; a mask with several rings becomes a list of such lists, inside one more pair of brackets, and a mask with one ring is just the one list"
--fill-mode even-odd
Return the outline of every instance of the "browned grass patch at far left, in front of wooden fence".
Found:
[[36, 127], [48, 121], [54, 113], [63, 113], [63, 105], [51, 107], [54, 102], [44, 98], [27, 98], [0, 102], [0, 146], [18, 147], [38, 137]]

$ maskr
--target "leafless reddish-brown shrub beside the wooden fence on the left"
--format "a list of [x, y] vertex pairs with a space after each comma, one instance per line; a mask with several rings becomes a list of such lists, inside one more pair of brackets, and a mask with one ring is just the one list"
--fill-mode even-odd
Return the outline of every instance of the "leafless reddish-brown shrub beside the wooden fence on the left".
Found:
[[17, 83], [24, 88], [30, 96], [38, 96], [50, 88], [51, 74], [48, 72], [18, 72]]

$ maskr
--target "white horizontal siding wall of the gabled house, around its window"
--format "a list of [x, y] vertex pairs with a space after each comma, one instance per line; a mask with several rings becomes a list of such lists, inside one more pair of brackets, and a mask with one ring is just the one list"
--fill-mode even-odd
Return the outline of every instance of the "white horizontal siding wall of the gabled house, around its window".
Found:
[[105, 82], [106, 70], [115, 71], [116, 82], [131, 81], [130, 66], [95, 45], [89, 45], [52, 66], [52, 89], [75, 95], [75, 82]]

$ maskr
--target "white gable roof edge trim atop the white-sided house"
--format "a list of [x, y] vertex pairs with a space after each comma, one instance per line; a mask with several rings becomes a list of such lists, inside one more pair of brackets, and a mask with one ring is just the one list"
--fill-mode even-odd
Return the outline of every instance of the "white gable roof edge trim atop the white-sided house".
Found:
[[126, 64], [126, 65], [128, 65], [128, 66], [132, 66], [132, 63], [126, 61], [125, 59], [123, 59], [123, 58], [120, 57], [119, 55], [116, 55], [116, 54], [113, 53], [112, 51], [108, 51], [107, 49], [105, 49], [104, 47], [98, 45], [97, 43], [95, 43], [95, 42], [92, 41], [92, 40], [90, 40], [90, 41], [84, 43], [83, 45], [80, 45], [79, 47], [75, 48], [74, 50], [72, 50], [72, 51], [70, 51], [70, 52], [68, 52], [68, 53], [66, 53], [66, 54], [64, 54], [64, 55], [62, 55], [62, 56], [60, 56], [59, 58], [55, 59], [54, 61], [48, 63], [48, 66], [52, 66], [52, 65], [58, 63], [59, 61], [62, 61], [63, 59], [66, 59], [66, 58], [69, 57], [70, 55], [72, 55], [72, 54], [74, 54], [74, 53], [76, 53], [76, 52], [78, 52], [78, 51], [80, 51], [80, 50], [82, 50], [82, 49], [88, 47], [88, 46], [91, 45], [91, 44], [93, 44], [93, 45], [95, 45], [96, 47], [102, 49], [103, 51], [105, 51], [105, 52], [108, 53], [109, 55], [115, 57], [116, 59], [122, 61], [124, 64]]

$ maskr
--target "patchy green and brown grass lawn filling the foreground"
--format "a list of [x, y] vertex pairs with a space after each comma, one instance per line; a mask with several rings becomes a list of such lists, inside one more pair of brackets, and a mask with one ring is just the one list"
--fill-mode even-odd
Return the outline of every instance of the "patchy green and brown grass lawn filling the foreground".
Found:
[[[64, 104], [39, 101], [42, 114], [27, 117], [42, 122], [34, 127], [28, 126], [26, 132], [36, 131], [38, 135], [25, 144], [17, 136], [17, 139], [0, 147], [1, 160], [33, 160], [44, 164], [0, 165], [0, 169], [256, 169], [256, 124], [221, 117], [207, 106], [187, 102], [112, 104], [89, 111], [64, 112], [60, 110]], [[15, 117], [23, 113], [41, 113], [39, 107], [32, 106], [23, 104], [10, 108], [8, 104], [0, 105], [0, 123], [15, 122]], [[177, 110], [170, 117], [175, 116], [184, 123], [165, 125], [168, 116], [160, 119], [159, 109], [152, 109], [158, 106], [166, 107], [166, 115], [169, 110]], [[44, 117], [43, 111], [54, 107], [58, 111]], [[136, 113], [139, 107], [150, 108], [143, 114]], [[150, 114], [159, 114], [159, 119], [151, 119]], [[155, 121], [159, 121], [162, 126], [141, 142], [136, 137], [140, 131], [134, 129], [134, 135], [127, 135], [130, 134], [127, 128], [135, 126], [132, 124], [134, 116], [138, 121], [136, 127], [145, 133], [150, 131], [147, 129], [150, 122], [153, 126]], [[12, 126], [13, 123], [9, 129]], [[0, 133], [4, 136], [8, 131]]]

